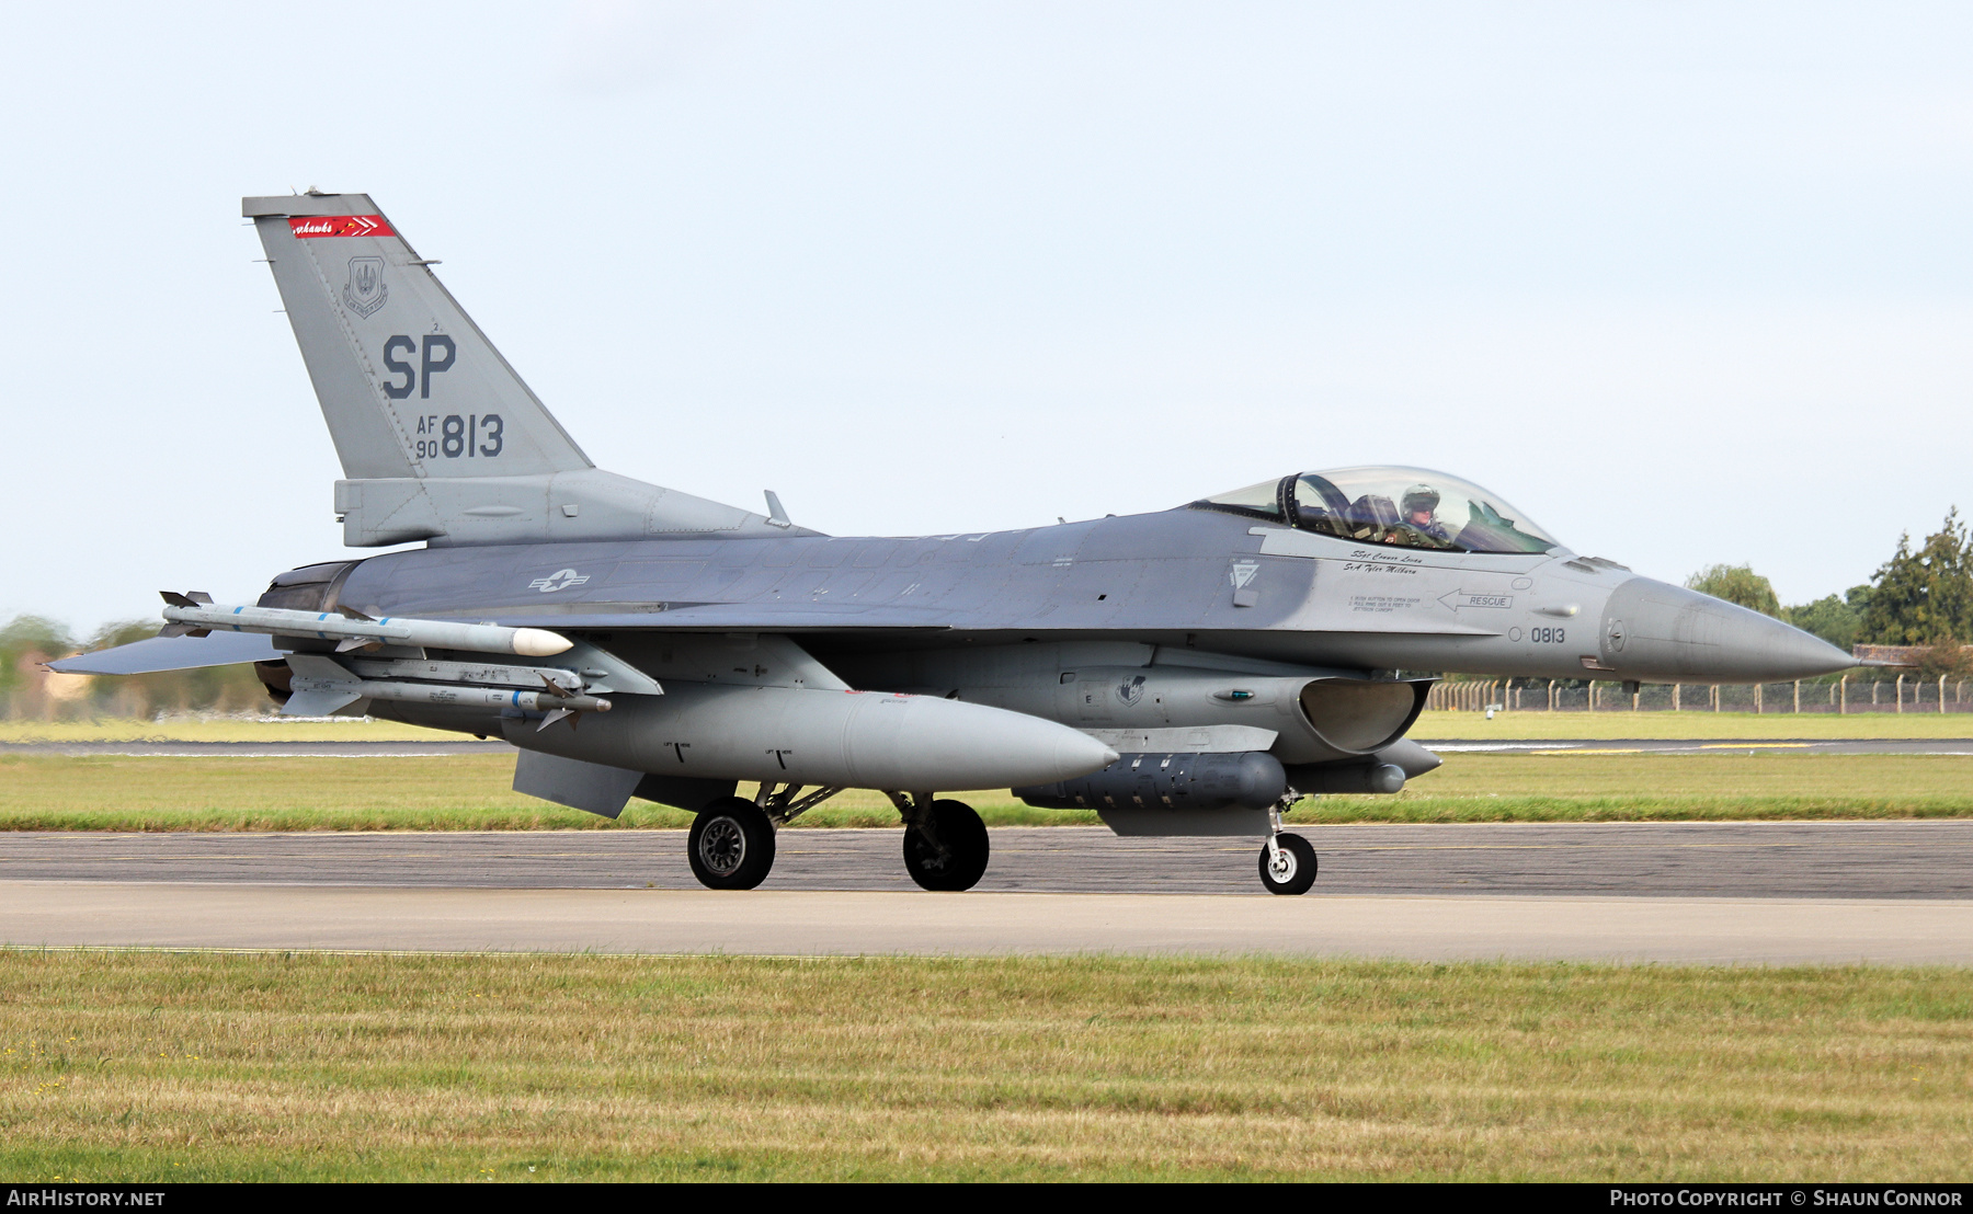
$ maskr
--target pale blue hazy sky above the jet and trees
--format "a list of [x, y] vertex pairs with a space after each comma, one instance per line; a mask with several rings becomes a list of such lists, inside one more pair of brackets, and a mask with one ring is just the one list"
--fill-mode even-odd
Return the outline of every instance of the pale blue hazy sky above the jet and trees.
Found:
[[1405, 463], [1807, 601], [1973, 510], [1967, 6], [37, 6], [0, 37], [0, 619], [363, 556], [239, 217], [312, 185], [440, 258], [598, 465], [831, 534]]

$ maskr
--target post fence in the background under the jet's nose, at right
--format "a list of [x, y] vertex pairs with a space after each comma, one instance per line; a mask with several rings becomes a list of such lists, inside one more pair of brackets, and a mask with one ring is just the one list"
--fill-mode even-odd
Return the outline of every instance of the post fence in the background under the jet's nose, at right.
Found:
[[1778, 684], [1642, 684], [1588, 680], [1446, 680], [1426, 709], [1452, 711], [1752, 711], [1752, 713], [1910, 713], [1973, 711], [1969, 680], [1900, 674], [1882, 680], [1803, 680]]

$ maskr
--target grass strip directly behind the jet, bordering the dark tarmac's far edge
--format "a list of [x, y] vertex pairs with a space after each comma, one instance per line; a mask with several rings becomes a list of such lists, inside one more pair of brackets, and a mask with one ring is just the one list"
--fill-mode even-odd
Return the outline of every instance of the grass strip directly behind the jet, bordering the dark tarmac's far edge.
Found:
[[[0, 755], [0, 830], [614, 830], [683, 828], [633, 800], [612, 822], [509, 788], [513, 759], [154, 759]], [[750, 788], [744, 786], [750, 792]], [[959, 792], [992, 826], [1095, 824], [1006, 790]], [[1973, 757], [1786, 751], [1452, 753], [1397, 796], [1324, 796], [1290, 822], [1665, 822], [1973, 818]], [[896, 826], [846, 792], [795, 826]]]

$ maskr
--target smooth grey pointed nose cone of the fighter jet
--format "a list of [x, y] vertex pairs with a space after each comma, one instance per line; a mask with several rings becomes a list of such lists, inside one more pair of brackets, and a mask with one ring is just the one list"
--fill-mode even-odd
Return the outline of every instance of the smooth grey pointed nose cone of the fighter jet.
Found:
[[1857, 664], [1774, 617], [1649, 577], [1610, 595], [1600, 650], [1606, 668], [1653, 682], [1786, 682]]

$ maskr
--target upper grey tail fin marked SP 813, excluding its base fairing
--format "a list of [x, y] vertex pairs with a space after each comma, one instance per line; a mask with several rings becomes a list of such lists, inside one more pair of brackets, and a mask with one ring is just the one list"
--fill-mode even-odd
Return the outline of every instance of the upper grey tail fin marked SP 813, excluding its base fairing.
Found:
[[363, 193], [245, 199], [351, 479], [594, 467]]

